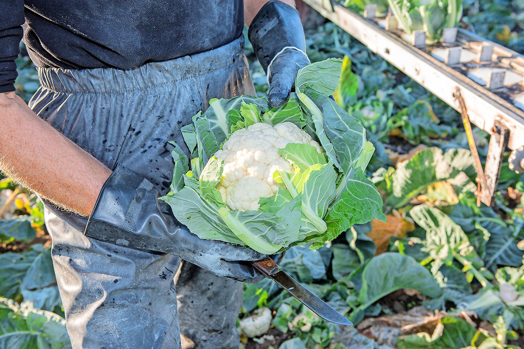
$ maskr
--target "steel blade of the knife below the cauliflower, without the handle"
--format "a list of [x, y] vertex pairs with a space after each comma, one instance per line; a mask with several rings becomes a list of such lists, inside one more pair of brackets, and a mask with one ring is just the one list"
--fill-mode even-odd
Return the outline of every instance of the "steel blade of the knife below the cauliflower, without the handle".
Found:
[[266, 276], [275, 280], [275, 282], [282, 286], [283, 289], [288, 291], [294, 298], [297, 298], [304, 306], [311, 309], [312, 312], [322, 319], [341, 325], [353, 324], [341, 313], [330, 307], [328, 303], [324, 302], [319, 297], [316, 297], [312, 292], [308, 291], [308, 289], [300, 285], [297, 280], [293, 279], [285, 272], [279, 271], [272, 275], [266, 274]]

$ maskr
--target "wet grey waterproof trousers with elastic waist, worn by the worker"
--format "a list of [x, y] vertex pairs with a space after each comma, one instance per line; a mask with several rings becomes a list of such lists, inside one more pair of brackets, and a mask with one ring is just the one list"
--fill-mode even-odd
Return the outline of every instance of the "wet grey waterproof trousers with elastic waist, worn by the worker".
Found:
[[[167, 142], [211, 98], [254, 94], [243, 38], [133, 70], [39, 69], [29, 106], [107, 167], [118, 162], [160, 193], [173, 173]], [[57, 154], [57, 156], [60, 156]], [[86, 220], [46, 207], [52, 257], [73, 348], [238, 348], [242, 284], [179, 257], [82, 234]]]

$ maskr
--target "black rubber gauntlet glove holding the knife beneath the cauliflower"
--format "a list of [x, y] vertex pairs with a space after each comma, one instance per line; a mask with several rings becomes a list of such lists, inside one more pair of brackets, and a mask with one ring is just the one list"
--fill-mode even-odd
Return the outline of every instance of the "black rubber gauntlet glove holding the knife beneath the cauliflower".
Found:
[[93, 239], [181, 257], [218, 276], [257, 283], [264, 276], [246, 261], [265, 257], [243, 246], [202, 240], [174, 219], [147, 179], [117, 166], [104, 184], [85, 235]]

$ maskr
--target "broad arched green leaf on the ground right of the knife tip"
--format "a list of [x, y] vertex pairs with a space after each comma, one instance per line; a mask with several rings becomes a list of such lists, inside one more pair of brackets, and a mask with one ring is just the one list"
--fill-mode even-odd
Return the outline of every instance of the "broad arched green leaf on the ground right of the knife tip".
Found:
[[365, 308], [401, 288], [415, 289], [432, 298], [442, 294], [428, 269], [413, 257], [387, 252], [374, 257], [364, 268], [358, 300]]

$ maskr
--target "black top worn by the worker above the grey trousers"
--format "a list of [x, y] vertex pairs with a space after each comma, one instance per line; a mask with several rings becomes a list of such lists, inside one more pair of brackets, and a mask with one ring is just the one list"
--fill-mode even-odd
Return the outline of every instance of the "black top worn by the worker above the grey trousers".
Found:
[[129, 69], [231, 42], [243, 16], [243, 0], [0, 0], [0, 92], [22, 37], [39, 67]]

